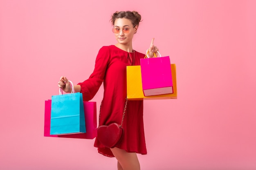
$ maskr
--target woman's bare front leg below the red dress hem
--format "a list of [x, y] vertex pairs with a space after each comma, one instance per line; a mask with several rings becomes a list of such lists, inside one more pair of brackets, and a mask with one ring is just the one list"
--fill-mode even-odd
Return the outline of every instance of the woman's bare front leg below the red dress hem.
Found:
[[111, 148], [111, 151], [123, 170], [140, 170], [139, 160], [135, 152], [130, 153], [119, 148]]

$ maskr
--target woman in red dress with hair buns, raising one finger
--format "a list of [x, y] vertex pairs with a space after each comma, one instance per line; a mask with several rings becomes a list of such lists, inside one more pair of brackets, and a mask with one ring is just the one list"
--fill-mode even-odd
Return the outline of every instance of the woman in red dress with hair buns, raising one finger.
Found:
[[[76, 92], [83, 93], [83, 100], [89, 101], [104, 85], [101, 103], [100, 125], [116, 122], [121, 124], [126, 102], [126, 66], [140, 65], [145, 54], [132, 48], [132, 38], [137, 33], [141, 15], [136, 11], [115, 12], [111, 22], [117, 44], [103, 46], [97, 55], [95, 68], [89, 79], [74, 86]], [[149, 57], [158, 49], [152, 39]], [[71, 86], [66, 77], [61, 77], [58, 86], [66, 93], [71, 93]], [[123, 121], [124, 136], [115, 148], [106, 148], [96, 138], [94, 146], [107, 157], [116, 157], [118, 170], [139, 170], [137, 153], [147, 154], [143, 125], [143, 100], [128, 101]]]

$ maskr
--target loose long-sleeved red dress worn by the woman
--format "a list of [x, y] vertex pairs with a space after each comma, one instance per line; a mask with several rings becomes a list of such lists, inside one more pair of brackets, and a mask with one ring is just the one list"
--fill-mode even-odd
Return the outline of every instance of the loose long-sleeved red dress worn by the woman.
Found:
[[[81, 85], [83, 100], [89, 101], [99, 90], [102, 82], [104, 94], [101, 105], [100, 125], [108, 125], [113, 122], [121, 124], [124, 104], [126, 102], [126, 66], [140, 65], [140, 59], [145, 55], [135, 51], [128, 53], [114, 45], [103, 46], [97, 55], [95, 68], [89, 79]], [[127, 152], [147, 154], [144, 124], [143, 124], [143, 100], [128, 101], [123, 122], [124, 137], [116, 146]], [[104, 147], [95, 139], [94, 146], [98, 152], [114, 157], [110, 148]]]

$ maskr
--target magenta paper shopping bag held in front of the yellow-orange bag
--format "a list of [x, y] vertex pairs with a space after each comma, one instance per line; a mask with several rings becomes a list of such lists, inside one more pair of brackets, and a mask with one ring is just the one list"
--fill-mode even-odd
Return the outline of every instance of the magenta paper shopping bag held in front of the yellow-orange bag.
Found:
[[160, 53], [159, 56], [149, 58], [147, 50], [146, 57], [140, 59], [144, 96], [173, 93], [170, 57], [162, 57]]

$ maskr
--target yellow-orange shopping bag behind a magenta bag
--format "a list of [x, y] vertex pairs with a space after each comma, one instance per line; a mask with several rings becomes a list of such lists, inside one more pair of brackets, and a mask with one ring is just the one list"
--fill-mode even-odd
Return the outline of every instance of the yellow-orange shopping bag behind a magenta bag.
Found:
[[141, 67], [127, 66], [127, 99], [128, 100], [143, 100], [143, 99], [177, 99], [176, 86], [176, 65], [171, 64], [171, 73], [173, 80], [173, 93], [164, 95], [144, 96], [141, 81]]

